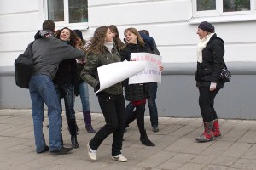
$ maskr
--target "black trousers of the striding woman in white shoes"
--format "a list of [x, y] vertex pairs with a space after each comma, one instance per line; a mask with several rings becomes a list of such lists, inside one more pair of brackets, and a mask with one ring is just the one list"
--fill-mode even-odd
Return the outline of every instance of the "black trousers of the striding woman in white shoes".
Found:
[[113, 133], [112, 156], [121, 154], [124, 137], [125, 98], [123, 94], [98, 94], [98, 101], [102, 109], [106, 124], [90, 140], [90, 148], [97, 150], [102, 141]]

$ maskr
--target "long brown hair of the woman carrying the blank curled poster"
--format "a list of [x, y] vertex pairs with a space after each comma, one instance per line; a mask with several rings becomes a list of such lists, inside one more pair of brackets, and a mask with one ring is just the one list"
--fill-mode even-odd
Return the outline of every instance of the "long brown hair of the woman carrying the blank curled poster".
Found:
[[103, 54], [105, 53], [105, 39], [108, 31], [108, 26], [101, 26], [94, 31], [93, 37], [90, 38], [88, 50], [86, 52], [89, 54]]

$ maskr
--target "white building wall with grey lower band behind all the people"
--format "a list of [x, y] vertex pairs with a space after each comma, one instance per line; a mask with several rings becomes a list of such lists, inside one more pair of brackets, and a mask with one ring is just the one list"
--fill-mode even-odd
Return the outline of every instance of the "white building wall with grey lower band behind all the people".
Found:
[[[201, 116], [194, 81], [198, 42], [195, 32], [200, 21], [192, 17], [191, 2], [89, 0], [89, 27], [79, 27], [85, 39], [91, 37], [98, 26], [111, 24], [118, 26], [121, 38], [127, 27], [150, 32], [165, 64], [157, 95], [159, 116]], [[255, 119], [256, 95], [252, 93], [256, 83], [255, 20], [242, 16], [240, 21], [234, 21], [236, 16], [232, 17], [232, 22], [216, 17], [213, 23], [218, 36], [225, 41], [224, 58], [230, 62], [227, 65], [232, 73], [231, 82], [218, 94], [216, 110], [220, 118]], [[212, 18], [204, 19], [212, 21]], [[0, 108], [31, 108], [27, 89], [15, 85], [13, 64], [18, 54], [32, 42], [44, 20], [44, 0], [0, 1]], [[101, 112], [93, 89], [89, 89], [91, 111]], [[76, 99], [75, 107], [76, 111], [81, 111], [79, 99]]]

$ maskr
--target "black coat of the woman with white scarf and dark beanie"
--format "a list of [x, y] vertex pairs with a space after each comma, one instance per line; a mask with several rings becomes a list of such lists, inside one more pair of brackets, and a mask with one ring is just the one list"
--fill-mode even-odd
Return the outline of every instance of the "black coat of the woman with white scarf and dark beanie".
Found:
[[207, 47], [202, 51], [202, 63], [197, 62], [195, 81], [198, 87], [210, 87], [211, 82], [217, 82], [217, 88], [223, 88], [219, 82], [219, 74], [224, 68], [224, 41], [214, 34]]

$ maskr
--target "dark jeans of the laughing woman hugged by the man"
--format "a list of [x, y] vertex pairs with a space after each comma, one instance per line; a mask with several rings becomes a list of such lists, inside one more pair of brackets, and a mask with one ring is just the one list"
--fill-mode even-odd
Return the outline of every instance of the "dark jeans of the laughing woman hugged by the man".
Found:
[[[65, 111], [68, 120], [75, 119], [73, 84], [60, 84], [57, 88], [60, 97], [64, 98]], [[60, 98], [61, 104], [61, 98]]]

